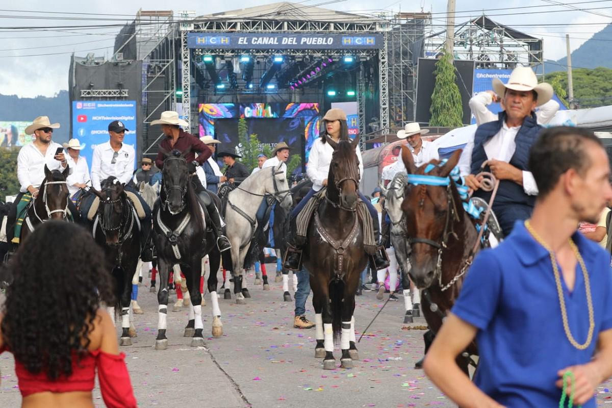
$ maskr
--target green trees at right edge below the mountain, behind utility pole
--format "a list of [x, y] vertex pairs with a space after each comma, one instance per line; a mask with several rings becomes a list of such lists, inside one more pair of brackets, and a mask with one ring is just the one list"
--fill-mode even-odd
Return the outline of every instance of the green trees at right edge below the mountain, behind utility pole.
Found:
[[[612, 104], [612, 69], [573, 69], [572, 80], [577, 108], [596, 108]], [[567, 72], [549, 73], [545, 81], [551, 85], [558, 83], [559, 88], [567, 92]], [[554, 90], [559, 96], [558, 89]]]

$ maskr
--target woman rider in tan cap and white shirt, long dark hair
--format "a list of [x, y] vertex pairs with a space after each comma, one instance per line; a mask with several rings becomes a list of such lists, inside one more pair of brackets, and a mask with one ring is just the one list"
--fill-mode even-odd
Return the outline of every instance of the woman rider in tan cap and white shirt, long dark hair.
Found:
[[[308, 191], [308, 194], [297, 204], [293, 212], [291, 212], [291, 226], [293, 229], [293, 237], [289, 240], [289, 249], [285, 255], [285, 262], [283, 267], [289, 270], [299, 270], [300, 259], [302, 258], [302, 246], [305, 243], [305, 234], [297, 234], [296, 217], [304, 209], [307, 202], [312, 199], [321, 188], [327, 185], [327, 174], [329, 174], [329, 166], [332, 161], [332, 154], [334, 154], [334, 148], [327, 143], [326, 136], [329, 136], [332, 140], [338, 143], [341, 140], [350, 140], [348, 136], [348, 125], [346, 124], [346, 113], [342, 109], [329, 109], [323, 117], [325, 123], [324, 131], [318, 139], [313, 143], [310, 149], [310, 155], [308, 157], [307, 174], [310, 180], [313, 182], [313, 186]], [[359, 146], [356, 149], [357, 157], [359, 158], [359, 176], [364, 171], [364, 163], [361, 158], [361, 151]], [[368, 208], [370, 214], [371, 223], [373, 226], [373, 242], [378, 243], [380, 237], [380, 226], [378, 223], [378, 213], [371, 204], [370, 200], [365, 198], [362, 193], [359, 193], [361, 201], [364, 202]], [[309, 206], [310, 207], [310, 206]], [[313, 209], [314, 210], [314, 209]], [[314, 212], [314, 211], [312, 211]], [[308, 220], [312, 217], [312, 213], [308, 214]], [[364, 220], [365, 222], [366, 220]], [[310, 222], [310, 221], [308, 221]], [[293, 242], [292, 242], [293, 241]], [[386, 253], [383, 247], [376, 248], [376, 253], [373, 255], [373, 262], [376, 269], [384, 269], [389, 266], [389, 260], [386, 257]]]

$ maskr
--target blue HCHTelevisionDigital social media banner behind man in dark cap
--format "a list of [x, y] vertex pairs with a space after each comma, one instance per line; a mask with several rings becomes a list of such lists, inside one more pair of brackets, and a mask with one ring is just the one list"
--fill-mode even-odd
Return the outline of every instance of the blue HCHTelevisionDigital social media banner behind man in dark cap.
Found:
[[[108, 142], [108, 124], [121, 121], [126, 129], [123, 143], [136, 148], [136, 101], [81, 100], [72, 102], [72, 138], [86, 144], [81, 150], [91, 171], [94, 147]], [[136, 160], [136, 159], [135, 159]], [[136, 163], [134, 163], [136, 168]]]

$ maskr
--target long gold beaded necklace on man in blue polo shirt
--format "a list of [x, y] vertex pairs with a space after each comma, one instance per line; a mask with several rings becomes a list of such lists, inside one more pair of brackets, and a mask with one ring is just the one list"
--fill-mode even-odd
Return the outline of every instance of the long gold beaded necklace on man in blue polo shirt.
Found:
[[544, 247], [545, 250], [548, 251], [548, 255], [550, 256], [550, 262], [553, 264], [553, 272], [554, 272], [554, 281], [557, 284], [557, 294], [559, 295], [559, 305], [561, 305], [561, 319], [563, 320], [563, 328], [565, 330], [565, 336], [572, 344], [572, 346], [576, 347], [578, 350], [584, 350], [589, 347], [591, 341], [593, 339], [593, 330], [595, 328], [595, 317], [593, 314], [593, 302], [591, 299], [591, 284], [589, 283], [589, 274], [586, 271], [586, 266], [584, 266], [584, 261], [582, 256], [580, 255], [580, 251], [578, 251], [578, 247], [573, 243], [572, 239], [569, 240], [570, 247], [573, 252], [576, 254], [576, 258], [578, 259], [578, 264], [580, 264], [580, 269], [582, 270], [582, 275], [584, 276], [584, 290], [586, 291], [586, 305], [589, 309], [589, 333], [586, 336], [586, 341], [584, 344], [579, 344], [572, 336], [572, 332], [570, 332], [570, 325], [567, 322], [567, 311], [565, 310], [565, 298], [563, 296], [563, 289], [561, 288], [561, 278], [559, 277], [559, 269], [557, 267], [557, 259], [554, 256], [554, 252], [548, 247], [548, 245], [540, 238], [537, 232], [534, 231], [533, 227], [529, 223], [529, 220], [525, 221], [525, 228], [531, 234], [532, 237]]

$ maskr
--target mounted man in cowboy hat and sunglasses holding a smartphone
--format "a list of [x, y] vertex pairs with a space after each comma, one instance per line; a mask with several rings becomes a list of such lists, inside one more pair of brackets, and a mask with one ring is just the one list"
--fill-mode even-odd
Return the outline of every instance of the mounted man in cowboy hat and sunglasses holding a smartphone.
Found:
[[19, 243], [17, 232], [21, 228], [21, 223], [15, 223], [15, 220], [28, 202], [38, 195], [38, 188], [45, 179], [45, 165], [51, 171], [64, 169], [67, 165], [64, 149], [59, 143], [51, 141], [53, 129], [57, 128], [59, 123], [51, 124], [48, 116], [39, 116], [26, 127], [26, 135], [34, 135], [34, 141], [21, 147], [17, 156], [17, 179], [21, 188], [7, 219], [9, 242]]

